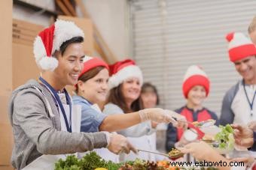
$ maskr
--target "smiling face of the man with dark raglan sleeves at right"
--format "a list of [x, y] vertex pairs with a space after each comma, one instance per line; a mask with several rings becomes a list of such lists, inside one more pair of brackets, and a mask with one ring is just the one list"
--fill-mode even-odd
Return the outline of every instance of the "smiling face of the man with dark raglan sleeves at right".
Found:
[[246, 84], [256, 83], [256, 57], [249, 56], [234, 62], [236, 71], [245, 79]]

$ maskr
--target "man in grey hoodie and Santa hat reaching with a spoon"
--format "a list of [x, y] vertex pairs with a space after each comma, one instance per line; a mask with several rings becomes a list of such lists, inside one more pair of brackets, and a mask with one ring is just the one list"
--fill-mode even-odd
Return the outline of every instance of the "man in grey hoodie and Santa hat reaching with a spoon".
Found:
[[[61, 154], [108, 148], [115, 154], [136, 149], [123, 136], [80, 133], [81, 107], [65, 89], [83, 69], [84, 32], [73, 22], [57, 20], [35, 38], [34, 55], [41, 69], [11, 97], [9, 117], [14, 132], [11, 163], [15, 169], [53, 169]], [[58, 155], [59, 154], [59, 155]]]

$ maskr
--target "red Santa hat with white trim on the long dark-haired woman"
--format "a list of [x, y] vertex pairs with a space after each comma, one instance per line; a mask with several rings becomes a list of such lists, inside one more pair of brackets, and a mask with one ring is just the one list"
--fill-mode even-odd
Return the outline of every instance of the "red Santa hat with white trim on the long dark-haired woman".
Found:
[[117, 87], [130, 77], [138, 78], [140, 85], [143, 84], [142, 70], [136, 66], [136, 63], [133, 60], [126, 59], [117, 61], [116, 63], [109, 65], [109, 70], [111, 77], [108, 79], [108, 87], [110, 89]]

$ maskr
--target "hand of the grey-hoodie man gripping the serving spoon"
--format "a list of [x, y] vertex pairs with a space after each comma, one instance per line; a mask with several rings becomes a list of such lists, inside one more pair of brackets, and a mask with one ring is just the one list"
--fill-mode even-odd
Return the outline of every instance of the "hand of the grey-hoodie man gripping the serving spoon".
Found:
[[121, 152], [125, 152], [129, 154], [130, 151], [137, 153], [137, 149], [130, 144], [126, 137], [109, 133], [109, 144], [108, 150], [113, 152], [114, 154], [120, 154]]

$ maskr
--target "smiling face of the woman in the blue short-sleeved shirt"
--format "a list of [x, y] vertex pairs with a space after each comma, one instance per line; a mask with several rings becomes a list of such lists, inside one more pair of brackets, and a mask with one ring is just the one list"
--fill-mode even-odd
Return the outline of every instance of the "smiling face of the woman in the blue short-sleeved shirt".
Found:
[[79, 94], [93, 104], [105, 102], [108, 93], [108, 78], [108, 70], [104, 68], [86, 82], [79, 80]]

